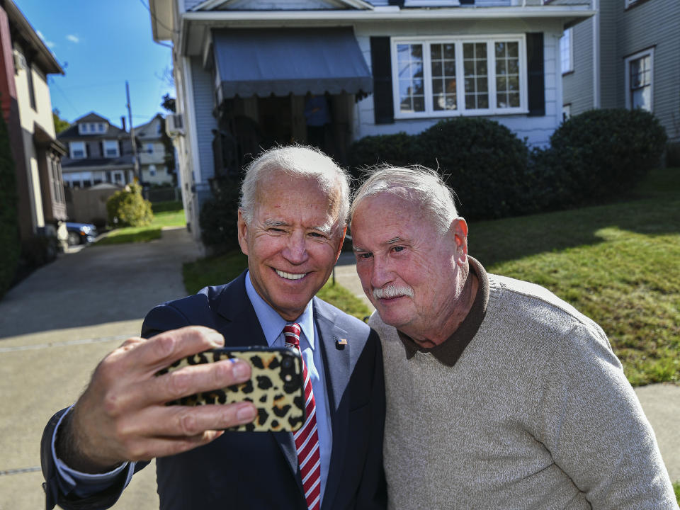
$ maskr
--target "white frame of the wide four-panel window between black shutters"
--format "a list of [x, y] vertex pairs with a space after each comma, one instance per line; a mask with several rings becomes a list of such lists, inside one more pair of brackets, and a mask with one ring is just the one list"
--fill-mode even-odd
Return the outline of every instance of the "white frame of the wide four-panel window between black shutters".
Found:
[[[430, 45], [432, 43], [452, 42], [455, 44], [455, 76], [456, 76], [456, 101], [455, 110], [436, 111], [431, 109], [432, 102], [432, 66]], [[465, 108], [465, 74], [463, 72], [463, 45], [465, 43], [487, 43], [487, 73], [489, 108]], [[496, 105], [496, 66], [495, 49], [496, 42], [518, 42], [519, 57], [519, 107], [497, 108]], [[397, 45], [411, 44], [423, 47], [423, 80], [425, 95], [425, 111], [402, 112], [399, 97], [399, 71], [397, 63]], [[494, 34], [494, 35], [466, 35], [466, 36], [433, 36], [427, 38], [395, 37], [391, 40], [392, 58], [392, 102], [395, 119], [412, 118], [450, 118], [459, 116], [479, 115], [516, 115], [528, 113], [528, 87], [527, 87], [527, 63], [526, 63], [526, 36], [524, 34]], [[492, 64], [489, 64], [489, 61]]]

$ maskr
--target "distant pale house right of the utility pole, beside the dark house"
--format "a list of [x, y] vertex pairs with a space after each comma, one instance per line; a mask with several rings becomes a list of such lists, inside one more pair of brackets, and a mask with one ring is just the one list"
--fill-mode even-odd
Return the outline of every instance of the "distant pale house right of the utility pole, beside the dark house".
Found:
[[173, 185], [173, 171], [168, 168], [171, 158], [167, 157], [164, 140], [165, 119], [157, 114], [148, 123], [135, 128], [139, 149], [140, 181], [144, 185]]

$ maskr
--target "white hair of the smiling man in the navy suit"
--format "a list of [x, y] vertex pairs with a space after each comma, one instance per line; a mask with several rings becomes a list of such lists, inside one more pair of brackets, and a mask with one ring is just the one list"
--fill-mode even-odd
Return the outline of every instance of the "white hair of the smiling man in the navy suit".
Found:
[[349, 177], [330, 157], [315, 147], [288, 145], [274, 147], [254, 159], [246, 169], [241, 185], [241, 208], [246, 224], [249, 224], [257, 205], [257, 190], [262, 179], [273, 171], [283, 171], [296, 177], [313, 179], [330, 195], [339, 191], [338, 219], [341, 227], [347, 222], [349, 211]]

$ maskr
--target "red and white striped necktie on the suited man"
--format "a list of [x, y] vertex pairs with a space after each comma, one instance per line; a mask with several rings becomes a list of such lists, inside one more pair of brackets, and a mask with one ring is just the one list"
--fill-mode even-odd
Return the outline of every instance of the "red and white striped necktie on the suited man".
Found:
[[[300, 350], [300, 326], [287, 324], [283, 328], [283, 336], [288, 346]], [[317, 433], [317, 407], [314, 404], [312, 380], [307, 372], [307, 365], [302, 361], [302, 378], [305, 380], [305, 412], [307, 421], [300, 430], [293, 434], [297, 450], [297, 465], [300, 466], [302, 489], [305, 490], [307, 508], [319, 510], [321, 506], [321, 455], [319, 454], [319, 433]]]

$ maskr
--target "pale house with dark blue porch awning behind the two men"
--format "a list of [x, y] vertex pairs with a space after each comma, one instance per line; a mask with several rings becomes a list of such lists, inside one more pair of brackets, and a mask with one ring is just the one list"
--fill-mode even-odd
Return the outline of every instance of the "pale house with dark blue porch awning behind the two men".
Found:
[[[173, 42], [189, 225], [213, 179], [276, 142], [307, 142], [305, 103], [326, 99], [317, 142], [339, 162], [367, 135], [441, 119], [498, 120], [545, 145], [562, 120], [559, 40], [589, 2], [543, 0], [150, 0], [153, 37]], [[314, 126], [316, 128], [317, 126]], [[317, 135], [314, 135], [317, 139]], [[198, 239], [198, 228], [193, 228]]]

